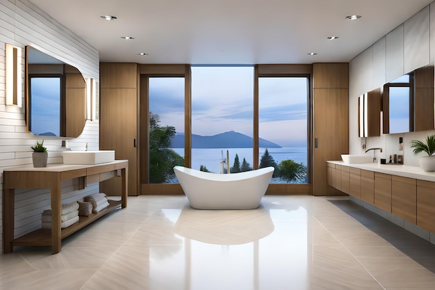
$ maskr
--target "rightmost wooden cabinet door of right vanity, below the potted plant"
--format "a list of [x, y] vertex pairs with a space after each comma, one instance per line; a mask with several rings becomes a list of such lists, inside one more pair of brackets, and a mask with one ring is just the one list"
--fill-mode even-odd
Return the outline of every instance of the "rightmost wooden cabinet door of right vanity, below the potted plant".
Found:
[[435, 232], [435, 182], [417, 180], [417, 225]]

